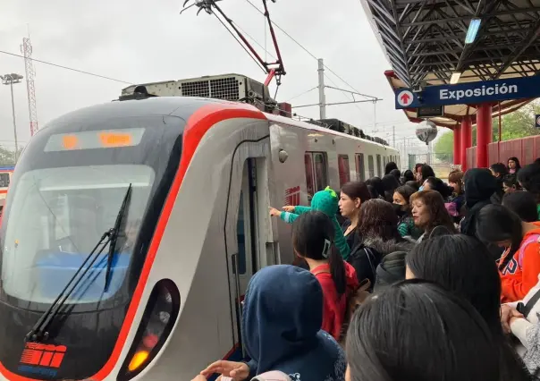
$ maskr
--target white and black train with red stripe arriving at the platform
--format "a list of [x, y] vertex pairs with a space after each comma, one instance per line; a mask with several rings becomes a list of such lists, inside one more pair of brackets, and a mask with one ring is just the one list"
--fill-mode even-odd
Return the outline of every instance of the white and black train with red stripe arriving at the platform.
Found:
[[384, 174], [399, 151], [207, 97], [139, 97], [32, 137], [0, 228], [0, 379], [190, 380], [245, 355], [241, 301], [291, 264], [269, 207]]

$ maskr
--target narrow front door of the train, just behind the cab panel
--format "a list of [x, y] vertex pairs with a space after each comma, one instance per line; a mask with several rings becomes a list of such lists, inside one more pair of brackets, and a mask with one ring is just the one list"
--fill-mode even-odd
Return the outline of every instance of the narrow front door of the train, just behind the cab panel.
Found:
[[240, 317], [249, 280], [260, 268], [279, 263], [277, 225], [268, 213], [268, 207], [274, 205], [270, 190], [273, 183], [269, 181], [271, 164], [269, 140], [266, 140], [240, 145], [232, 165], [229, 210], [234, 218], [227, 217], [225, 231], [229, 232], [227, 240], [235, 241], [227, 243], [231, 249], [228, 250], [229, 288], [232, 337], [242, 357], [246, 354]]

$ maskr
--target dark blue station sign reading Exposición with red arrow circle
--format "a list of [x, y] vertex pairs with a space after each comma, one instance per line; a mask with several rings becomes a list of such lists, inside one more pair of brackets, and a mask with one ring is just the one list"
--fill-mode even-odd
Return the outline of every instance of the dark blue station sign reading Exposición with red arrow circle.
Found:
[[457, 85], [427, 86], [421, 92], [395, 89], [395, 107], [399, 110], [431, 106], [477, 105], [485, 102], [534, 97], [540, 97], [540, 75]]

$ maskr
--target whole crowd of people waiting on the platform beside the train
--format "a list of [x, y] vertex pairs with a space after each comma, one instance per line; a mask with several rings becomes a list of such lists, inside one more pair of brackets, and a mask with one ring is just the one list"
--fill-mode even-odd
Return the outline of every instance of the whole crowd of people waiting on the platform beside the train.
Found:
[[[298, 266], [259, 270], [241, 318], [248, 362], [194, 381], [510, 381], [540, 377], [540, 160], [430, 165], [271, 208]], [[269, 372], [269, 373], [268, 373]]]

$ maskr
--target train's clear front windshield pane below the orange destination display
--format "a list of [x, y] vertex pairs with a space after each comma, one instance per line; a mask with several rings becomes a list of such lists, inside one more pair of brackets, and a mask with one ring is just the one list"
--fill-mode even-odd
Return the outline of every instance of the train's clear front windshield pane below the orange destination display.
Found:
[[103, 233], [114, 226], [131, 183], [110, 286], [105, 292], [107, 247], [67, 302], [92, 303], [114, 295], [130, 264], [155, 177], [148, 165], [43, 168], [22, 174], [5, 231], [4, 292], [21, 301], [55, 301]]

